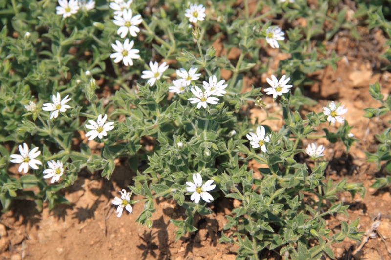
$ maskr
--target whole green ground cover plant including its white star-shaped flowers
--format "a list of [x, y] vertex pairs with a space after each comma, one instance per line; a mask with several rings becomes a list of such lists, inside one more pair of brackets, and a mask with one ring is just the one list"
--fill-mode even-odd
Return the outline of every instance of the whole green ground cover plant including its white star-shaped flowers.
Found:
[[[389, 28], [378, 6], [357, 5], [363, 23]], [[371, 8], [373, 15], [363, 14]], [[340, 60], [315, 39], [331, 40], [341, 29], [359, 37], [347, 11], [322, 0], [257, 1], [251, 8], [247, 0], [2, 2], [3, 212], [17, 199], [34, 200], [39, 211], [70, 204], [62, 189], [81, 171], [110, 180], [121, 161], [136, 176], [111, 198], [119, 218], [141, 203], [135, 221], [152, 228], [156, 199], [174, 200], [186, 212], [170, 219], [180, 240], [197, 231], [196, 215], [212, 214], [211, 203], [228, 198], [239, 206], [226, 215], [219, 242], [237, 245], [236, 259], [260, 259], [264, 250], [285, 259], [334, 258], [332, 244], [361, 242], [364, 232], [359, 218], [341, 220], [339, 232], [326, 219], [348, 215], [339, 193], [364, 197], [365, 189], [346, 179], [325, 180], [327, 151], [313, 140], [341, 143], [346, 152], [358, 140], [345, 120], [349, 107], [328, 100], [315, 109], [317, 102], [303, 93], [314, 83], [311, 74], [336, 69]], [[305, 26], [292, 23], [300, 18]], [[218, 39], [239, 57], [216, 55]], [[267, 86], [248, 86], [245, 76], [270, 72], [260, 60], [266, 45], [287, 58], [267, 76]], [[115, 91], [105, 96], [105, 88]], [[389, 98], [379, 93], [379, 84], [371, 86], [389, 110]], [[266, 103], [264, 96], [273, 100]], [[278, 111], [260, 123], [242, 113], [271, 103]], [[367, 110], [370, 117], [386, 111]], [[262, 124], [270, 119], [284, 123], [275, 131]], [[386, 144], [379, 146], [382, 154], [373, 159], [368, 153], [370, 160], [389, 164], [387, 138], [389, 130], [379, 138]], [[262, 165], [261, 178], [250, 161]]]

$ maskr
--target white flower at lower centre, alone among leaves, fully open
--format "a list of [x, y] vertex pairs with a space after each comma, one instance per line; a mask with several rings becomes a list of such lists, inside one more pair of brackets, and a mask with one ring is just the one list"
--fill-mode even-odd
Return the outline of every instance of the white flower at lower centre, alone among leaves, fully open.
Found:
[[198, 204], [199, 200], [202, 198], [202, 200], [205, 200], [206, 202], [210, 203], [210, 200], [213, 200], [212, 195], [208, 192], [216, 188], [216, 184], [213, 184], [213, 180], [208, 180], [205, 182], [204, 185], [202, 185], [202, 177], [199, 173], [193, 174], [193, 182], [186, 181], [186, 185], [189, 187], [186, 188], [188, 192], [193, 192], [192, 196], [190, 197], [190, 200], [194, 201]]

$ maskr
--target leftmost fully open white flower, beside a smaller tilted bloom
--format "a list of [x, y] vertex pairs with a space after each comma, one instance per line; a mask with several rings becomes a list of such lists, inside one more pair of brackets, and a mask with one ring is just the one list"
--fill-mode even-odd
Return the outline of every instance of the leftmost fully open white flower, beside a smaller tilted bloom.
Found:
[[[24, 147], [24, 149], [23, 149]], [[14, 158], [13, 160], [10, 160], [12, 163], [21, 163], [19, 166], [18, 171], [21, 172], [22, 169], [24, 173], [28, 172], [28, 166], [30, 166], [34, 170], [38, 170], [38, 166], [36, 164], [42, 165], [41, 161], [34, 159], [37, 156], [41, 154], [41, 151], [38, 151], [38, 147], [35, 147], [31, 149], [29, 152], [27, 143], [23, 143], [22, 145], [19, 145], [19, 154], [12, 154], [9, 157]], [[38, 151], [38, 152], [37, 152]]]

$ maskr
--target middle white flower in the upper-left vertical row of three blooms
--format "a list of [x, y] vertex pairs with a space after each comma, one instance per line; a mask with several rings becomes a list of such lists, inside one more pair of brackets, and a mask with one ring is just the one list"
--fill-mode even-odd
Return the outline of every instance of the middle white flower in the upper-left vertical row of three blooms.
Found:
[[132, 17], [131, 9], [124, 10], [122, 17], [114, 16], [114, 23], [117, 26], [120, 26], [117, 30], [117, 34], [120, 35], [121, 38], [125, 38], [128, 34], [128, 31], [131, 36], [136, 37], [137, 33], [140, 32], [140, 29], [136, 26], [139, 25], [143, 19], [141, 15], [135, 15]]

